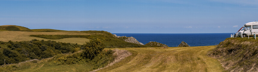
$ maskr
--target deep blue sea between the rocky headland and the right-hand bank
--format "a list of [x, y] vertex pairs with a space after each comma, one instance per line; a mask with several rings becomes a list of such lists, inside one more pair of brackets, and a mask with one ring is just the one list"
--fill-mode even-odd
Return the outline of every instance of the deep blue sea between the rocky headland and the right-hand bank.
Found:
[[182, 41], [189, 46], [211, 46], [217, 45], [232, 33], [202, 33], [202, 34], [134, 34], [134, 33], [113, 33], [117, 36], [134, 37], [137, 41], [147, 44], [156, 41], [166, 44], [169, 47], [176, 47]]

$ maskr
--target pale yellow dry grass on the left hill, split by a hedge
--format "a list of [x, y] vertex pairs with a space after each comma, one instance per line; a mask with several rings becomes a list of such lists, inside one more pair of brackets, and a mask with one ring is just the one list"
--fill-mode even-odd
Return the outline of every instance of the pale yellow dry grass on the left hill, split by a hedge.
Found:
[[32, 39], [38, 40], [51, 40], [51, 41], [59, 41], [66, 43], [77, 43], [77, 44], [85, 44], [85, 41], [89, 41], [86, 38], [64, 38], [64, 39], [44, 39], [37, 37], [30, 37], [29, 35], [90, 35], [88, 33], [83, 33], [80, 31], [58, 31], [58, 32], [23, 32], [23, 31], [1, 31], [0, 32], [0, 41], [30, 41]]

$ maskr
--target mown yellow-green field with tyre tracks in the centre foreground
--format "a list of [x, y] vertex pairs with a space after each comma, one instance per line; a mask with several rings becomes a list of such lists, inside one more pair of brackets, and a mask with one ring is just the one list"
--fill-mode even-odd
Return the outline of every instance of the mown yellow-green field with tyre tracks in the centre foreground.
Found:
[[108, 72], [222, 72], [224, 68], [216, 59], [208, 57], [207, 51], [215, 46], [129, 49], [134, 57], [119, 66], [102, 70]]

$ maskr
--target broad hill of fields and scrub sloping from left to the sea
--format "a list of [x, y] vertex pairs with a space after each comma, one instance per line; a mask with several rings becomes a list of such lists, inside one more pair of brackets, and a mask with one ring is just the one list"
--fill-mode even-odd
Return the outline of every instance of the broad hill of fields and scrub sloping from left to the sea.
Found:
[[[0, 26], [0, 41], [30, 41], [51, 40], [57, 42], [85, 44], [89, 39], [99, 38], [108, 48], [145, 47], [143, 45], [128, 43], [123, 38], [116, 38], [106, 31], [63, 31], [55, 29], [28, 29], [22, 26]], [[11, 27], [11, 28], [8, 28]]]

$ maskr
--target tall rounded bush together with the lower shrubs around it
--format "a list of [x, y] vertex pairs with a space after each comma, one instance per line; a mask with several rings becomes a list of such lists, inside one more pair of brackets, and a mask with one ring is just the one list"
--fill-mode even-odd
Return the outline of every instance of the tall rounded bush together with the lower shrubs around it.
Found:
[[104, 50], [104, 46], [100, 39], [92, 39], [89, 43], [84, 45], [82, 52], [58, 54], [51, 60], [55, 65], [64, 64], [91, 64], [93, 69], [105, 67], [114, 60], [112, 50]]

